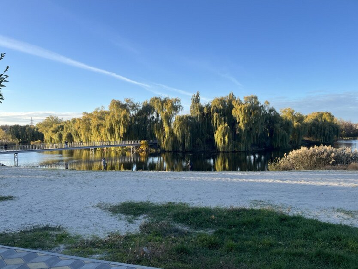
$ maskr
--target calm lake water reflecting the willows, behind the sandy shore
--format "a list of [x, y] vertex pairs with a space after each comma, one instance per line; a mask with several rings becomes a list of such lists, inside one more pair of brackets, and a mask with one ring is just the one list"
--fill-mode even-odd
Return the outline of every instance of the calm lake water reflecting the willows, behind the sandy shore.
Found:
[[[335, 147], [358, 149], [358, 140], [337, 140]], [[187, 160], [195, 171], [265, 171], [270, 160], [283, 157], [288, 151], [264, 151], [253, 153], [152, 153], [131, 154], [121, 151], [89, 150], [20, 153], [18, 166], [51, 169], [101, 170], [102, 158], [108, 170], [186, 171]], [[14, 155], [0, 155], [0, 163], [14, 166]]]

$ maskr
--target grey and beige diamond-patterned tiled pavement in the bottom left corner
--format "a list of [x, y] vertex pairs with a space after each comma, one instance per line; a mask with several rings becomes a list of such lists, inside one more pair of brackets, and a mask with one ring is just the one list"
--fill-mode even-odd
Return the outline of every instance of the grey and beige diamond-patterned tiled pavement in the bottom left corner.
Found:
[[[155, 269], [0, 245], [0, 269]], [[157, 268], [158, 269], [158, 268]]]

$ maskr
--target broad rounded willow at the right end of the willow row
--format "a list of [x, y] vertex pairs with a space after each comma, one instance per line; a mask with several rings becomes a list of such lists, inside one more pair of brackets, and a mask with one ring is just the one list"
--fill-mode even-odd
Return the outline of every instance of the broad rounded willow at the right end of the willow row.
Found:
[[313, 112], [305, 118], [307, 137], [321, 143], [332, 144], [339, 136], [339, 125], [330, 112]]

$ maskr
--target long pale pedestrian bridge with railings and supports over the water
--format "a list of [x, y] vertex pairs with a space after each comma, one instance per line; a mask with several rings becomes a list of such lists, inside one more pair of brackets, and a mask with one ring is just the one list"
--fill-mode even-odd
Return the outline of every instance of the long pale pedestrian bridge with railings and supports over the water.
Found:
[[99, 141], [99, 142], [75, 142], [75, 143], [58, 143], [58, 144], [34, 144], [34, 145], [17, 145], [17, 146], [4, 146], [0, 147], [1, 154], [14, 154], [14, 162], [17, 165], [18, 153], [25, 152], [42, 152], [42, 151], [55, 151], [55, 150], [94, 150], [97, 148], [113, 148], [113, 147], [131, 147], [131, 150], [141, 145], [141, 141], [148, 142], [149, 145], [157, 145], [157, 140], [126, 140], [126, 141]]

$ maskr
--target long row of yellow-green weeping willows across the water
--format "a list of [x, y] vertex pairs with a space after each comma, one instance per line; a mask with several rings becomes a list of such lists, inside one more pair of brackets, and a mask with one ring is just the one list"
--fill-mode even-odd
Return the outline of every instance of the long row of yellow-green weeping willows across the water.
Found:
[[279, 113], [254, 95], [241, 100], [230, 93], [203, 105], [197, 92], [190, 114], [179, 115], [182, 110], [178, 98], [153, 97], [142, 104], [112, 100], [108, 110], [67, 121], [50, 116], [36, 128], [46, 143], [157, 139], [166, 151], [284, 149], [301, 145], [303, 137], [332, 143], [339, 134], [330, 112], [304, 116], [287, 108]]

